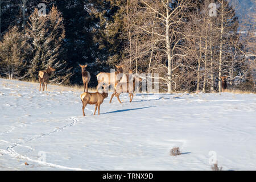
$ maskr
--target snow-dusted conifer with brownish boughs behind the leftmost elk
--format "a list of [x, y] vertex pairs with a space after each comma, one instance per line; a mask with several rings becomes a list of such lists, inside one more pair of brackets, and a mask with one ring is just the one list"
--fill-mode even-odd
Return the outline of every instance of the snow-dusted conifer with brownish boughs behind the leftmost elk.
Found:
[[28, 69], [30, 77], [36, 79], [38, 71], [52, 66], [56, 68], [52, 82], [68, 83], [71, 68], [67, 68], [65, 61], [58, 60], [65, 30], [63, 18], [57, 8], [53, 6], [46, 16], [39, 16], [38, 9], [35, 9], [25, 31], [32, 45], [32, 59]]

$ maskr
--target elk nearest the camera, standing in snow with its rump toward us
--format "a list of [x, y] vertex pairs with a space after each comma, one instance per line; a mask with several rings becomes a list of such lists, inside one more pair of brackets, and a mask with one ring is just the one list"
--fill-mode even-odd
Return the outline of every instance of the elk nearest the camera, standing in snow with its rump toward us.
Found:
[[104, 101], [104, 99], [106, 97], [108, 97], [108, 92], [106, 92], [106, 89], [104, 89], [103, 93], [99, 93], [99, 92], [96, 92], [96, 93], [89, 93], [89, 92], [84, 92], [81, 94], [80, 98], [81, 98], [81, 101], [82, 101], [82, 115], [85, 116], [85, 113], [84, 113], [84, 109], [86, 107], [87, 104], [95, 104], [95, 110], [94, 110], [94, 114], [96, 113], [96, 110], [98, 108], [98, 114], [100, 115], [100, 106], [102, 104], [102, 102]]

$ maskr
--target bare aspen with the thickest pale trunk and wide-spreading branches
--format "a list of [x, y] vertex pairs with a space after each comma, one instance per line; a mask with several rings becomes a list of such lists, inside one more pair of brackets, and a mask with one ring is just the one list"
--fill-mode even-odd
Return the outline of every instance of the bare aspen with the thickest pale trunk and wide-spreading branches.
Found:
[[[167, 75], [164, 77], [160, 77], [167, 82], [168, 93], [172, 92], [172, 72], [174, 71], [174, 59], [176, 56], [184, 56], [185, 51], [184, 47], [180, 46], [180, 42], [184, 39], [182, 32], [179, 31], [179, 27], [182, 26], [183, 19], [186, 14], [184, 9], [188, 6], [192, 6], [189, 4], [189, 0], [184, 1], [176, 1], [172, 3], [172, 1], [149, 1], [149, 0], [141, 0], [138, 1], [139, 9], [144, 11], [144, 14], [147, 16], [154, 16], [157, 20], [157, 23], [162, 27], [154, 32], [148, 30], [148, 26], [152, 23], [144, 22], [143, 26], [139, 26], [138, 28], [141, 31], [146, 32], [147, 34], [153, 33], [158, 36], [158, 39], [162, 40], [164, 43], [164, 51], [166, 53], [167, 66], [163, 65], [163, 68], [167, 69]], [[176, 69], [176, 68], [175, 68]]]

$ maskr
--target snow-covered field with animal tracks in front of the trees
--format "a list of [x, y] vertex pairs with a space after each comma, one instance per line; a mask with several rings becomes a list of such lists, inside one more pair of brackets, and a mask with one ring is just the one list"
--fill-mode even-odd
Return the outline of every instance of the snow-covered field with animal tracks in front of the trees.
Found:
[[82, 117], [81, 92], [48, 88], [0, 79], [0, 170], [211, 170], [209, 151], [256, 169], [255, 94], [121, 94]]

